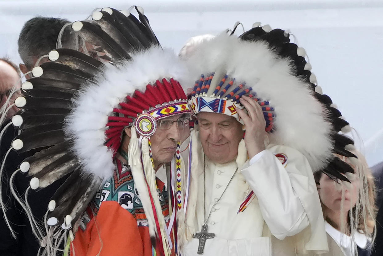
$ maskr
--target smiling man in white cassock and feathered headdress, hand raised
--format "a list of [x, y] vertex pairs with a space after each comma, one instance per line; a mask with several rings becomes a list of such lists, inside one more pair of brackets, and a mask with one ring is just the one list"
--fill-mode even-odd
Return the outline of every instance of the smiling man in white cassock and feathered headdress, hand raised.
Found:
[[330, 158], [333, 131], [301, 51], [285, 31], [258, 26], [183, 56], [199, 79], [183, 255], [328, 250], [313, 171]]

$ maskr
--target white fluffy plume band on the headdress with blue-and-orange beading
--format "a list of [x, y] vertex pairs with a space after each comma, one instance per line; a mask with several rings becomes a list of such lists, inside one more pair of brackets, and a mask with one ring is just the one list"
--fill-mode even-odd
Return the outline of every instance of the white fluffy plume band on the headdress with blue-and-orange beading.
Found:
[[332, 149], [331, 123], [313, 91], [291, 72], [290, 59], [278, 56], [264, 42], [241, 41], [223, 33], [199, 44], [187, 64], [192, 76], [185, 87], [193, 87], [201, 74], [212, 72], [226, 73], [237, 84], [246, 82], [257, 97], [275, 107], [270, 142], [300, 151], [313, 171], [325, 166]]

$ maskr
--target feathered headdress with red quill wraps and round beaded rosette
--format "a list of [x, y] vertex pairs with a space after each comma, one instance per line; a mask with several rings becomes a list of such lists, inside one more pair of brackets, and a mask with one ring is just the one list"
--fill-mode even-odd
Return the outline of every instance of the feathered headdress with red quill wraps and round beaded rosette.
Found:
[[[133, 8], [139, 19], [129, 11], [104, 8], [95, 11], [92, 20], [66, 25], [63, 30], [75, 31], [83, 41], [82, 51], [96, 59], [71, 49], [49, 52], [49, 62], [33, 68], [33, 77], [22, 85], [23, 95], [15, 100], [21, 111], [12, 123], [20, 135], [12, 148], [38, 150], [20, 164], [31, 181], [25, 201], [18, 201], [48, 253], [54, 254], [55, 245], [65, 241], [67, 230], [73, 240], [72, 230], [77, 230], [88, 203], [121, 168], [114, 160], [126, 127], [133, 131], [128, 163], [149, 233], [164, 251], [172, 246], [157, 198], [150, 136], [160, 118], [190, 113], [178, 82], [187, 70], [172, 51], [160, 47], [142, 8]], [[178, 143], [171, 167], [177, 185], [170, 195], [172, 214], [177, 213], [173, 219], [179, 223], [183, 223], [182, 170]], [[67, 179], [49, 202], [44, 232], [28, 211], [28, 191], [43, 189], [64, 176]]]

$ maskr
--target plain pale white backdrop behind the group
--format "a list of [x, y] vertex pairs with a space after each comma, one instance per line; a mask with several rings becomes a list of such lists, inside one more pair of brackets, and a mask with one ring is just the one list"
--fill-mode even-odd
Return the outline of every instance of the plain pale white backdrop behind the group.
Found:
[[[36, 15], [83, 20], [97, 7], [144, 8], [164, 47], [179, 51], [191, 36], [241, 21], [290, 29], [304, 47], [323, 92], [355, 128], [370, 166], [383, 161], [383, 0], [2, 0], [0, 56], [21, 60], [17, 38]], [[38, 36], [38, 35], [36, 35]], [[364, 145], [364, 146], [363, 146]]]

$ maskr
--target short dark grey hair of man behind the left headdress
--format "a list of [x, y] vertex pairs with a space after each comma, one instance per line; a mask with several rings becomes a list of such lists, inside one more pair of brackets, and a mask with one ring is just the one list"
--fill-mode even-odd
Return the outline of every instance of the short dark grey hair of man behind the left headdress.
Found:
[[[68, 22], [65, 19], [38, 16], [24, 24], [17, 41], [18, 52], [29, 70], [34, 66], [36, 58], [56, 48], [60, 30]], [[63, 46], [72, 48], [71, 45], [76, 37], [73, 31], [65, 31], [61, 39]]]

